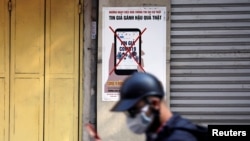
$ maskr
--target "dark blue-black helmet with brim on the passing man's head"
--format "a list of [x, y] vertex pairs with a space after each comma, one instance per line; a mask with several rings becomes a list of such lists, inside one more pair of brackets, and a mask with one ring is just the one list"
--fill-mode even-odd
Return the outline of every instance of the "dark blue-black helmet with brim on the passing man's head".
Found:
[[124, 80], [120, 88], [120, 100], [111, 111], [126, 111], [147, 96], [164, 96], [162, 83], [152, 74], [136, 72]]

